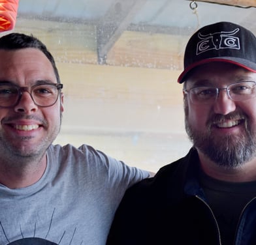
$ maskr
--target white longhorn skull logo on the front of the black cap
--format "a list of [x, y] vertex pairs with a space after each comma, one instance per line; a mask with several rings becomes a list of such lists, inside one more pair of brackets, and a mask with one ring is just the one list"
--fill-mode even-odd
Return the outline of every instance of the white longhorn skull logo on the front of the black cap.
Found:
[[234, 29], [234, 31], [220, 31], [208, 35], [198, 33], [198, 37], [202, 41], [197, 44], [197, 55], [208, 50], [221, 50], [223, 48], [240, 50], [239, 38], [234, 36], [238, 31], [239, 28]]

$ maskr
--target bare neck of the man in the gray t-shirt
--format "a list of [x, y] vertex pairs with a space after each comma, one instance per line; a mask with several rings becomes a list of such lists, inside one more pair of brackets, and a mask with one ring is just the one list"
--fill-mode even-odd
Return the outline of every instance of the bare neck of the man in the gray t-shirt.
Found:
[[24, 188], [35, 184], [46, 169], [46, 154], [33, 162], [0, 162], [0, 183], [10, 189]]

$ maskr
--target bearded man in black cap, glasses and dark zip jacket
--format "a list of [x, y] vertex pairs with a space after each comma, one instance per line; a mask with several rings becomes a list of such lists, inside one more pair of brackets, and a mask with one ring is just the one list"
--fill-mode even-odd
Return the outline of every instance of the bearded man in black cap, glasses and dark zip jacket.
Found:
[[230, 22], [187, 43], [187, 156], [127, 190], [107, 244], [256, 244], [256, 38]]

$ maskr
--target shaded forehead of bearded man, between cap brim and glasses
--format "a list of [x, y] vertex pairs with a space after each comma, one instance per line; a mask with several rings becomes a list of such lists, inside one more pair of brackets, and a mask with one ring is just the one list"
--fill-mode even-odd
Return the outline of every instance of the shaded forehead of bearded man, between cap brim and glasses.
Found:
[[191, 70], [186, 83], [187, 86], [224, 85], [244, 80], [256, 81], [256, 73], [230, 63], [213, 62], [197, 66]]

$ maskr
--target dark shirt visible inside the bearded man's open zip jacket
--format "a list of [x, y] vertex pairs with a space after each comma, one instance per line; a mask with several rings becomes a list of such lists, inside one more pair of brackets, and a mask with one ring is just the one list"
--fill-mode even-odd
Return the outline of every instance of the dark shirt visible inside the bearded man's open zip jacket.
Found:
[[222, 244], [233, 244], [242, 210], [255, 197], [256, 182], [225, 182], [201, 172], [200, 184], [219, 225]]

